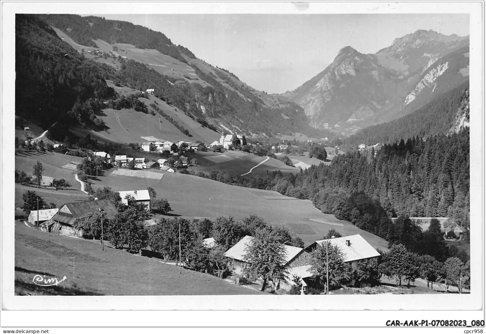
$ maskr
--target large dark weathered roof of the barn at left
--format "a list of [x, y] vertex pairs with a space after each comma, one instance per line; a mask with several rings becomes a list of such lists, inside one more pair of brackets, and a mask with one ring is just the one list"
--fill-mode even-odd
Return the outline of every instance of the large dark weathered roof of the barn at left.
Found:
[[113, 219], [118, 213], [117, 208], [111, 203], [109, 199], [100, 199], [98, 201], [86, 201], [86, 202], [75, 202], [66, 203], [63, 205], [61, 210], [65, 210], [66, 207], [69, 212], [59, 211], [56, 215], [52, 217], [52, 220], [59, 220], [61, 223], [72, 225], [74, 224], [74, 219], [83, 217], [88, 213], [99, 212], [101, 207], [106, 213], [106, 218]]

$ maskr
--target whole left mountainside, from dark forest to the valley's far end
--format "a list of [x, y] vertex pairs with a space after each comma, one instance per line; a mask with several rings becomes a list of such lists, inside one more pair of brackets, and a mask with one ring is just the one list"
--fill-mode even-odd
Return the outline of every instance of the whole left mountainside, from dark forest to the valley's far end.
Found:
[[[175, 112], [219, 133], [249, 137], [317, 133], [295, 103], [251, 88], [162, 33], [129, 22], [77, 15], [17, 15], [16, 44], [20, 60], [16, 94], [25, 97], [16, 100], [16, 114], [37, 119], [45, 123], [43, 127], [69, 113], [77, 115], [74, 118], [83, 126], [100, 125], [95, 115], [103, 109], [101, 104], [120, 98], [119, 89], [111, 91], [104, 80], [133, 89], [132, 94], [155, 89], [154, 95]], [[94, 87], [103, 88], [103, 93]], [[88, 100], [87, 115], [80, 115]], [[72, 109], [75, 102], [81, 109]]]

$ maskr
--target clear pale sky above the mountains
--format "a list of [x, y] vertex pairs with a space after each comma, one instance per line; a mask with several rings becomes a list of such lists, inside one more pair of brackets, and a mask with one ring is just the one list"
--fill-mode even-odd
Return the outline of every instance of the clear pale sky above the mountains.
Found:
[[418, 29], [469, 35], [468, 14], [100, 15], [160, 31], [213, 66], [267, 93], [301, 86], [351, 46], [376, 53]]

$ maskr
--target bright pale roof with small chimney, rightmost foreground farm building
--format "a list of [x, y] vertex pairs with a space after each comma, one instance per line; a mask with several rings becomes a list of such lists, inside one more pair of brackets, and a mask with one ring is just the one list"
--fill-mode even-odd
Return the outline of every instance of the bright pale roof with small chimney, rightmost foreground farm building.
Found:
[[[349, 246], [347, 246], [348, 240]], [[364, 238], [360, 234], [348, 235], [346, 237], [340, 238], [317, 240], [315, 243], [322, 244], [325, 241], [329, 241], [331, 245], [341, 248], [344, 254], [344, 262], [351, 262], [380, 256], [380, 253], [378, 253], [376, 249], [373, 248], [373, 246], [368, 244], [368, 242], [364, 240]]]

